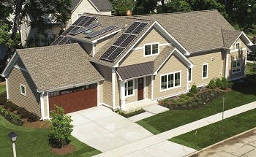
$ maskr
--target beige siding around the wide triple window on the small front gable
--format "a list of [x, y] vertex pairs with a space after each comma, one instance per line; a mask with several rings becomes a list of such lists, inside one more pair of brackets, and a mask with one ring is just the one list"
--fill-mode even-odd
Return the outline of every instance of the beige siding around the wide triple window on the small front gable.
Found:
[[[170, 88], [166, 91], [161, 91], [161, 75], [171, 72], [181, 71], [181, 87]], [[153, 99], [161, 99], [166, 96], [175, 95], [187, 91], [187, 67], [179, 61], [175, 55], [172, 55], [164, 66], [159, 70], [154, 78], [154, 96]]]

